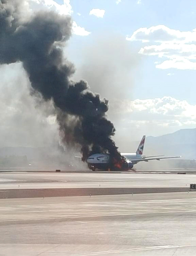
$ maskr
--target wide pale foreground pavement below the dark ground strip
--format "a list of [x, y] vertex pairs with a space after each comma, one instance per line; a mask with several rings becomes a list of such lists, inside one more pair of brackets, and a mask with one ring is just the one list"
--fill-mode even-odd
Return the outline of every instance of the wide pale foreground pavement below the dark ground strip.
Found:
[[0, 255], [195, 255], [196, 193], [1, 199]]

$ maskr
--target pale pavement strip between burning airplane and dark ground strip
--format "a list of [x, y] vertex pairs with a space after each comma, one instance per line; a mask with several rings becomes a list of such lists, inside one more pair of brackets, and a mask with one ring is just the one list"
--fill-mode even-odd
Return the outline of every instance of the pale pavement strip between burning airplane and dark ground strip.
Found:
[[96, 187], [189, 187], [193, 174], [122, 173], [0, 173], [0, 189], [96, 188]]

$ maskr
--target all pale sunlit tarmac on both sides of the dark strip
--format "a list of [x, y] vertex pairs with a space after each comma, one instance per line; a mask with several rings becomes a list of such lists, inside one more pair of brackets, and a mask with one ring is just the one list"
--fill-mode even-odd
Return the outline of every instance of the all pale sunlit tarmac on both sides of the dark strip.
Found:
[[[177, 174], [19, 172], [0, 178], [4, 190], [196, 183], [195, 175]], [[0, 199], [0, 256], [195, 256], [195, 216], [195, 191]]]

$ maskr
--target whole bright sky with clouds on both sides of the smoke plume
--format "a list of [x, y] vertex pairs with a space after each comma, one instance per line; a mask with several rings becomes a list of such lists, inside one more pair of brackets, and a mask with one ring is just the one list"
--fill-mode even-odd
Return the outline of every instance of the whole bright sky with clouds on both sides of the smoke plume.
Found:
[[[116, 127], [115, 141], [120, 149], [127, 138], [135, 141], [143, 134], [159, 136], [195, 128], [195, 1], [27, 3], [32, 12], [50, 9], [72, 16], [73, 35], [63, 46], [65, 58], [75, 65], [72, 79], [87, 80], [92, 91], [109, 99], [108, 118]], [[45, 145], [48, 134], [56, 136], [55, 120], [40, 111], [30, 97], [21, 64], [2, 65], [0, 72], [0, 129], [6, 138], [6, 142], [0, 140], [1, 145]], [[14, 120], [17, 127], [13, 133]], [[20, 138], [25, 138], [25, 143]]]

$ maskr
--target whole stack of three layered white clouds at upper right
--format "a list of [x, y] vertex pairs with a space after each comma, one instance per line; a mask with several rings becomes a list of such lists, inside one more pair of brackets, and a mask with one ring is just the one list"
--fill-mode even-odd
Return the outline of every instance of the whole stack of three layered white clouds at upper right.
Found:
[[196, 29], [192, 31], [180, 31], [170, 29], [164, 25], [150, 28], [139, 28], [131, 37], [130, 41], [142, 41], [160, 43], [159, 45], [148, 45], [140, 49], [139, 53], [148, 56], [166, 58], [162, 63], [156, 63], [156, 68], [168, 69], [192, 69], [196, 67]]

